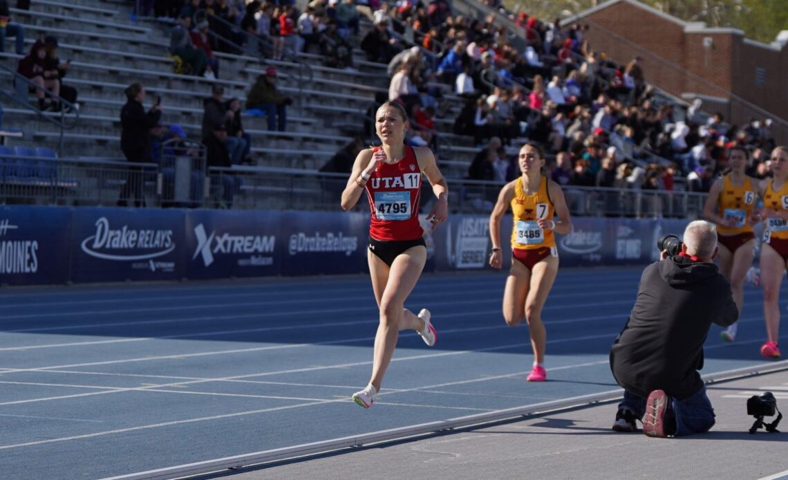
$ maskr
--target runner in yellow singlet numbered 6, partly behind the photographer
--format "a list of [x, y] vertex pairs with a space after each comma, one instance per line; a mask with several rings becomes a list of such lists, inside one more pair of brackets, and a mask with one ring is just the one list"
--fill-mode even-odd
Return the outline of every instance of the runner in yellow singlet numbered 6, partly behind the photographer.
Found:
[[[748, 161], [749, 156], [744, 148], [734, 147], [730, 150], [730, 173], [714, 182], [703, 209], [704, 217], [717, 225], [719, 272], [730, 281], [730, 289], [740, 314], [744, 309], [744, 282], [755, 255], [753, 223], [760, 221], [757, 214], [753, 217], [758, 180], [745, 174]], [[734, 341], [737, 330], [738, 322], [723, 330], [719, 336], [723, 340]]]

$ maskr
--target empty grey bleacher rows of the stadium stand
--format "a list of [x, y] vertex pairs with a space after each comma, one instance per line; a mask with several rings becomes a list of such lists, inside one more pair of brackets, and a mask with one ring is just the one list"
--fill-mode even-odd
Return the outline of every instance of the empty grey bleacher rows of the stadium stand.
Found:
[[[474, 12], [470, 4], [458, 2], [456, 13], [481, 18], [489, 11], [480, 5]], [[151, 94], [162, 97], [163, 124], [181, 125], [191, 140], [199, 140], [203, 100], [210, 95], [210, 88], [221, 84], [225, 87], [225, 99], [235, 97], [243, 102], [255, 78], [268, 65], [279, 69], [280, 90], [296, 102], [288, 107], [286, 132], [269, 132], [265, 117], [244, 117], [244, 129], [252, 138], [253, 166], [303, 169], [314, 173], [353, 136], [371, 137], [365, 132], [364, 120], [369, 116], [370, 106], [375, 104], [376, 94], [388, 92], [388, 76], [385, 64], [366, 61], [361, 50], [354, 49], [355, 69], [326, 67], [322, 65], [322, 57], [316, 54], [299, 54], [296, 62], [293, 58], [274, 61], [247, 53], [216, 52], [221, 61], [221, 78], [210, 80], [173, 73], [173, 58], [167, 51], [172, 22], [152, 18], [137, 20], [132, 11], [131, 3], [99, 0], [69, 4], [33, 0], [30, 10], [12, 9], [15, 21], [24, 24], [28, 47], [32, 47], [37, 38], [55, 35], [59, 43], [58, 56], [61, 60], [72, 60], [64, 83], [79, 90], [80, 119], [76, 127], [62, 132], [61, 162], [123, 161], [118, 114], [125, 103], [125, 88], [132, 82], [139, 81]], [[507, 22], [511, 23], [505, 19], [501, 23]], [[514, 29], [510, 32], [510, 39], [514, 41], [519, 27], [513, 23], [508, 27]], [[369, 28], [371, 22], [362, 20], [362, 35]], [[20, 56], [6, 53], [0, 54], [0, 58], [13, 65]], [[310, 65], [307, 74], [299, 62]], [[474, 145], [473, 137], [452, 132], [454, 119], [465, 100], [450, 93], [448, 86], [443, 88], [444, 115], [436, 119], [440, 132], [438, 160], [444, 175], [460, 179], [466, 177], [479, 147]], [[3, 125], [24, 132], [24, 138], [9, 143], [57, 150], [61, 131], [55, 123], [41, 121], [42, 113], [13, 103], [4, 108], [4, 113]], [[61, 113], [43, 115], [57, 119]], [[374, 141], [373, 138], [367, 140]], [[525, 139], [515, 140], [510, 153], [514, 153], [523, 141]], [[35, 154], [35, 150], [33, 152]], [[655, 154], [649, 155], [656, 158]], [[51, 159], [42, 160], [51, 162]], [[261, 204], [251, 203], [251, 206], [261, 207]]]

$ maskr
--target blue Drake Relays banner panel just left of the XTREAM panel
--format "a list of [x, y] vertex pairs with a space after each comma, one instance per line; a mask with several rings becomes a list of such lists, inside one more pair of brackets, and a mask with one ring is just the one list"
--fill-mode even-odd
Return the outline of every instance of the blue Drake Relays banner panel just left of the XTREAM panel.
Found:
[[71, 212], [72, 281], [185, 277], [184, 210], [85, 207]]

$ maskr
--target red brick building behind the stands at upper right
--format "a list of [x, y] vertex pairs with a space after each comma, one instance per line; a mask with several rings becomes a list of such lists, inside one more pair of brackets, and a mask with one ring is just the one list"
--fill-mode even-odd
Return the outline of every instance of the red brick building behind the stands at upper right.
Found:
[[624, 64], [640, 56], [650, 84], [687, 101], [700, 97], [703, 110], [732, 123], [771, 117], [775, 136], [788, 141], [784, 40], [767, 45], [737, 28], [682, 21], [635, 0], [610, 0], [564, 20], [573, 22], [589, 24], [590, 47], [608, 58]]

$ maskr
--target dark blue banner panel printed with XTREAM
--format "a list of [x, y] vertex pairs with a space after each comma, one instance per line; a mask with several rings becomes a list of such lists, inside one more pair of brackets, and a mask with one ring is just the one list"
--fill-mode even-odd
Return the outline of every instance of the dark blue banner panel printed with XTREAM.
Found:
[[283, 215], [254, 210], [187, 210], [186, 269], [189, 278], [277, 275], [285, 247]]

